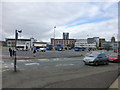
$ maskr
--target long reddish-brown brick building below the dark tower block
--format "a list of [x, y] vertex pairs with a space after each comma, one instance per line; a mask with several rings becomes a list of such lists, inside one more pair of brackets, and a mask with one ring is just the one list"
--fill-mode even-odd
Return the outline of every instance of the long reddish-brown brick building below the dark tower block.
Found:
[[75, 45], [75, 39], [54, 39], [54, 38], [51, 38], [51, 44], [53, 46], [56, 46], [57, 44], [61, 44], [65, 47], [73, 48]]

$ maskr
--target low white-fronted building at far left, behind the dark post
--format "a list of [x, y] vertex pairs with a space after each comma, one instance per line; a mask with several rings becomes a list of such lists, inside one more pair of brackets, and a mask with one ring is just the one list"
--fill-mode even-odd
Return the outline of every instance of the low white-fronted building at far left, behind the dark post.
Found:
[[[16, 46], [27, 46], [27, 48], [30, 49], [33, 48], [33, 42], [36, 42], [34, 38], [18, 39]], [[6, 45], [8, 47], [15, 47], [15, 39], [6, 38]]]

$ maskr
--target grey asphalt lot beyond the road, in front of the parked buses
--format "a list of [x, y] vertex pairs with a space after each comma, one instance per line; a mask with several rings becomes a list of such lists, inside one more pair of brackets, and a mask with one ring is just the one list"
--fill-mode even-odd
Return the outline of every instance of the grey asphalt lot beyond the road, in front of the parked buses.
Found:
[[[81, 54], [85, 55], [86, 52], [75, 52], [74, 50], [66, 51], [46, 51], [46, 52], [37, 52], [36, 57], [33, 57], [33, 51], [17, 51], [18, 59], [22, 58], [61, 58], [61, 57], [79, 57]], [[2, 49], [2, 58], [10, 59], [8, 48]], [[12, 58], [11, 58], [12, 59]]]

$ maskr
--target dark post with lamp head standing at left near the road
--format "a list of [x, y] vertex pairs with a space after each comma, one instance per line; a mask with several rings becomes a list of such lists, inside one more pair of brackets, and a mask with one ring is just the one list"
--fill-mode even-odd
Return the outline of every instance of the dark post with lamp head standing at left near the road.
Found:
[[16, 55], [17, 55], [17, 40], [18, 40], [18, 33], [22, 33], [22, 30], [15, 30], [15, 59], [14, 59], [14, 71], [16, 72], [16, 63], [17, 63], [17, 58], [16, 58]]

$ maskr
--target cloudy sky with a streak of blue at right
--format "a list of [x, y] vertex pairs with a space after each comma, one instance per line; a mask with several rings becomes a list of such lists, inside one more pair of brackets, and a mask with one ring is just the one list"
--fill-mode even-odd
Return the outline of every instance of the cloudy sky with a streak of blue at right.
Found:
[[3, 2], [2, 40], [14, 38], [15, 29], [23, 30], [19, 38], [39, 41], [62, 38], [105, 37], [118, 34], [117, 2]]

